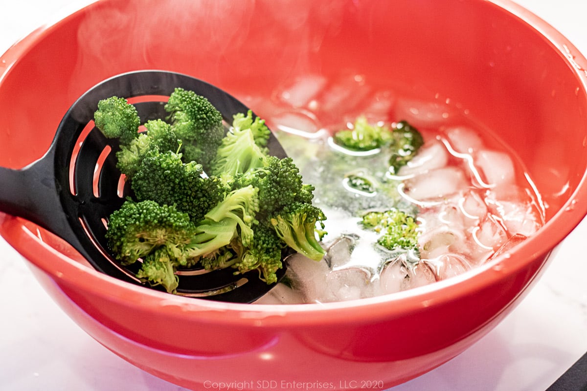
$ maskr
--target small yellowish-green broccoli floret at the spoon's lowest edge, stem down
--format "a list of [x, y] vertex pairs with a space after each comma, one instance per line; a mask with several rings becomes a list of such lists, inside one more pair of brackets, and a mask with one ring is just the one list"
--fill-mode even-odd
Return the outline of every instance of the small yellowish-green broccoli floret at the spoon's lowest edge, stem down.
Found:
[[179, 283], [175, 274], [176, 264], [166, 249], [157, 249], [143, 260], [137, 278], [151, 286], [162, 285], [168, 293], [174, 293]]

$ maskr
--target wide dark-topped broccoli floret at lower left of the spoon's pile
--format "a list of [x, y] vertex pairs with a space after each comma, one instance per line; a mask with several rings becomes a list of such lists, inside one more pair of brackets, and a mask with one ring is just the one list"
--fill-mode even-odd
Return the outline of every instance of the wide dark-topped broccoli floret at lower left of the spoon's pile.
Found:
[[191, 242], [196, 228], [187, 213], [173, 205], [127, 200], [110, 215], [106, 239], [123, 264], [131, 264], [160, 247], [173, 253]]

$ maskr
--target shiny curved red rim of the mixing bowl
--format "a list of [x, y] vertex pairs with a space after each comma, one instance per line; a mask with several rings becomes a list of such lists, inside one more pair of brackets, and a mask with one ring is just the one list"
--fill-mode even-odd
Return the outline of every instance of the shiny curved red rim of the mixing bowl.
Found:
[[[542, 35], [559, 53], [561, 60], [568, 64], [581, 85], [581, 94], [587, 97], [587, 60], [568, 39], [543, 19], [511, 0], [485, 0], [485, 2], [517, 17], [528, 28]], [[88, 8], [97, 3], [92, 1], [59, 21], [43, 25], [10, 47], [4, 55], [0, 56], [0, 60], [7, 64], [4, 71], [0, 73], [0, 84], [18, 57], [39, 42], [51, 29], [57, 28], [60, 23], [65, 22], [77, 12], [87, 12]], [[558, 246], [587, 215], [587, 202], [582, 201], [587, 199], [586, 181], [587, 173], [584, 173], [568, 201], [545, 223], [544, 227], [524, 243], [519, 244], [512, 256], [502, 254], [487, 264], [475, 267], [460, 276], [413, 290], [342, 302], [237, 304], [171, 296], [124, 283], [70, 259], [39, 240], [39, 237], [26, 227], [26, 221], [19, 217], [0, 213], [0, 234], [34, 267], [48, 274], [53, 280], [61, 281], [73, 288], [79, 287], [82, 284], [80, 281], [83, 281], [84, 289], [96, 297], [127, 301], [141, 310], [156, 310], [158, 314], [168, 317], [185, 318], [186, 312], [198, 312], [198, 318], [201, 319], [205, 311], [208, 321], [221, 321], [224, 324], [235, 325], [257, 325], [259, 321], [262, 321], [262, 324], [269, 326], [279, 326], [286, 322], [288, 327], [340, 322], [372, 322], [376, 319], [413, 314], [431, 305], [472, 294], [480, 288], [497, 283], [504, 276], [521, 270], [535, 259], [548, 256], [552, 249]], [[566, 212], [567, 210], [572, 210], [574, 213]], [[3, 215], [4, 219], [2, 219]], [[550, 232], [561, 234], [552, 236]], [[532, 280], [534, 278], [536, 276], [533, 276]], [[303, 313], [303, 317], [296, 316], [300, 313]]]

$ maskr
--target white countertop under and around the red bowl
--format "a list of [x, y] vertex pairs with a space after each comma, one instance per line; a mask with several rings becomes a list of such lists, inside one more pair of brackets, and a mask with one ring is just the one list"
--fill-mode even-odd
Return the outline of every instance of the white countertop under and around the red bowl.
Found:
[[[0, 0], [0, 53], [87, 2]], [[587, 1], [518, 3], [587, 53]], [[443, 366], [390, 391], [548, 388], [587, 352], [585, 237], [587, 220], [565, 240], [524, 301], [490, 334]], [[0, 390], [184, 390], [127, 363], [77, 327], [1, 237], [0, 254]]]

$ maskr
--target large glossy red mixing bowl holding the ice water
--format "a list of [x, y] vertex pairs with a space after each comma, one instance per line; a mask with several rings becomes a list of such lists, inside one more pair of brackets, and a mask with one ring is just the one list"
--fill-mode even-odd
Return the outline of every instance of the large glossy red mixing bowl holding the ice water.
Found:
[[282, 389], [340, 389], [377, 379], [387, 388], [436, 368], [522, 300], [587, 213], [587, 61], [510, 1], [99, 1], [1, 57], [0, 165], [41, 157], [76, 98], [114, 74], [190, 74], [265, 117], [276, 86], [308, 73], [333, 79], [343, 68], [373, 86], [397, 80], [432, 103], [450, 100], [494, 131], [534, 179], [544, 227], [507, 256], [447, 281], [303, 305], [174, 297], [97, 273], [17, 217], [0, 215], [0, 234], [87, 333], [177, 385], [253, 389], [279, 379]]

